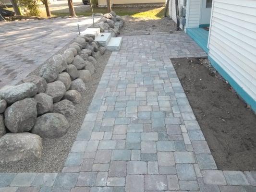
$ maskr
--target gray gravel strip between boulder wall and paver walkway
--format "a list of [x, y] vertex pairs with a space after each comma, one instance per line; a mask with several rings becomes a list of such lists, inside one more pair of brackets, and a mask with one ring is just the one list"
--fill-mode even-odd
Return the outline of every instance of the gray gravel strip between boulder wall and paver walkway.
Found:
[[39, 161], [0, 164], [0, 172], [61, 172], [68, 153], [75, 141], [77, 132], [80, 130], [83, 123], [86, 111], [98, 87], [110, 54], [110, 51], [106, 51], [105, 54], [100, 57], [96, 72], [92, 75], [92, 80], [85, 84], [86, 91], [81, 93], [82, 101], [80, 104], [75, 105], [76, 111], [72, 119], [68, 119], [70, 123], [68, 132], [60, 138], [43, 138], [43, 154]]

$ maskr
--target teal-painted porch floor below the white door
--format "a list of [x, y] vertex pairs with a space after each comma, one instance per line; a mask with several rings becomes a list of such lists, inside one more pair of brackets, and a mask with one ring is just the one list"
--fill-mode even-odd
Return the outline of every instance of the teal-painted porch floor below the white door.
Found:
[[201, 28], [187, 28], [186, 33], [208, 54], [208, 31]]

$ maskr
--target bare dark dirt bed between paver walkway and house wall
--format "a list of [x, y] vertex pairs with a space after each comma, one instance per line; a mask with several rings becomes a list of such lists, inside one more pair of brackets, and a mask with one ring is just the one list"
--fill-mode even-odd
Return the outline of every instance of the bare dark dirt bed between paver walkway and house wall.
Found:
[[207, 59], [172, 59], [190, 105], [221, 170], [256, 170], [256, 115]]

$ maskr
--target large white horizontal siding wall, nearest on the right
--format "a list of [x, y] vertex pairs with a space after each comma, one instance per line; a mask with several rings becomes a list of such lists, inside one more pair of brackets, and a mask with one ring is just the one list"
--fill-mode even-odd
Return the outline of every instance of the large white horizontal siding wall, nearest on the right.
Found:
[[214, 0], [209, 56], [256, 100], [256, 0]]

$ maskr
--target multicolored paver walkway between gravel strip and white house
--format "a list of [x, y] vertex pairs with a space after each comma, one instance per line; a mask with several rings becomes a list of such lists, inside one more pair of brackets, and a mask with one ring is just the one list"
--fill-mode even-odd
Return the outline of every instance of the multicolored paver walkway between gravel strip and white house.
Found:
[[62, 173], [1, 174], [0, 192], [256, 192], [256, 172], [217, 170], [170, 61], [201, 56], [185, 34], [123, 37]]

